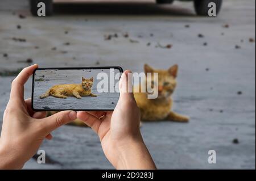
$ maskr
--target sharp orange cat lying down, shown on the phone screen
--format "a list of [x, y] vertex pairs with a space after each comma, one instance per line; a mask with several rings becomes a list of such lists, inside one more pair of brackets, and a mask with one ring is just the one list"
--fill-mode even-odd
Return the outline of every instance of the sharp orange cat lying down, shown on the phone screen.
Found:
[[46, 93], [40, 95], [40, 99], [47, 98], [52, 95], [55, 98], [67, 99], [68, 96], [75, 96], [77, 99], [81, 99], [82, 96], [92, 96], [97, 95], [92, 93], [93, 77], [90, 79], [85, 79], [82, 77], [82, 83], [80, 84], [63, 84], [52, 86]]

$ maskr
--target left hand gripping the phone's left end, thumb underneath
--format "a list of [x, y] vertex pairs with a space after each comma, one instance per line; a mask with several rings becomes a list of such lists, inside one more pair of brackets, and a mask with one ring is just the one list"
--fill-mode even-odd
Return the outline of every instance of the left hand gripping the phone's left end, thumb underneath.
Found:
[[63, 111], [46, 118], [46, 112], [34, 112], [31, 99], [24, 100], [24, 83], [38, 68], [23, 69], [11, 83], [10, 100], [3, 115], [0, 137], [0, 169], [21, 169], [51, 132], [77, 118], [75, 111]]

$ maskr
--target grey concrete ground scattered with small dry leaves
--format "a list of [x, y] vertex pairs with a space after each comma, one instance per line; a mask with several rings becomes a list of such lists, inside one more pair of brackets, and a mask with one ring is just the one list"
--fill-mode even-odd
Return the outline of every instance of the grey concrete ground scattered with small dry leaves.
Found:
[[[55, 10], [52, 17], [34, 18], [27, 1], [0, 2], [0, 73], [15, 74], [28, 58], [42, 67], [118, 65], [133, 71], [142, 71], [144, 63], [155, 68], [177, 63], [174, 110], [191, 121], [143, 124], [156, 166], [255, 169], [255, 43], [249, 41], [255, 40], [254, 0], [226, 0], [217, 18], [195, 16], [192, 3], [156, 6], [150, 0], [56, 5]], [[104, 40], [114, 33], [118, 37]], [[0, 117], [13, 78], [0, 77]], [[31, 79], [25, 90], [30, 97]], [[91, 129], [64, 126], [52, 134], [40, 148], [51, 163], [31, 159], [24, 169], [113, 169]], [[212, 149], [216, 164], [208, 163]]]

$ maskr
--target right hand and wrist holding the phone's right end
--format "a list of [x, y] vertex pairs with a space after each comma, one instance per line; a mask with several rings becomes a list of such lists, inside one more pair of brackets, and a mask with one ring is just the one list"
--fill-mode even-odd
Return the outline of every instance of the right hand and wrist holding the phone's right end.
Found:
[[133, 92], [127, 92], [125, 71], [119, 81], [121, 92], [113, 112], [77, 112], [100, 137], [102, 149], [110, 163], [117, 169], [156, 169], [155, 164], [143, 142], [140, 124], [140, 111]]

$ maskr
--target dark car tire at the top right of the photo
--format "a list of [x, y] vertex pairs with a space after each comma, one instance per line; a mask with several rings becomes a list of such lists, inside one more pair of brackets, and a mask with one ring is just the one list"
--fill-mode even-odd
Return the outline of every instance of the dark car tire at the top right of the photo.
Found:
[[200, 16], [207, 16], [209, 10], [208, 4], [210, 2], [214, 2], [216, 4], [216, 14], [218, 14], [221, 9], [222, 0], [194, 0], [196, 14]]

